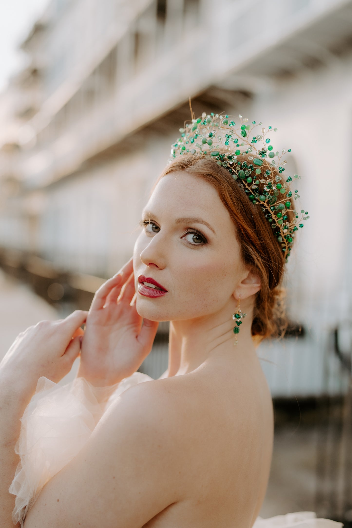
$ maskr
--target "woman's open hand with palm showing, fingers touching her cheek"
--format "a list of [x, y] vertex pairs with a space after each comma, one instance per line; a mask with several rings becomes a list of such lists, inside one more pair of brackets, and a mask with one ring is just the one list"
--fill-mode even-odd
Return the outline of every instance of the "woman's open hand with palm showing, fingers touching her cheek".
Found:
[[130, 306], [134, 295], [130, 259], [94, 295], [85, 324], [77, 376], [96, 386], [113, 385], [136, 372], [149, 354], [158, 323], [143, 319], [135, 304]]

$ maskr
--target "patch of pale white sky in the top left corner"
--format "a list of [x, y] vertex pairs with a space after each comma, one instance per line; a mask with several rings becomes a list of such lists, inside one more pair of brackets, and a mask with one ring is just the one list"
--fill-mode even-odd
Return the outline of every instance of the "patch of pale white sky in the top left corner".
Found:
[[18, 45], [50, 0], [0, 0], [0, 91], [24, 64]]

